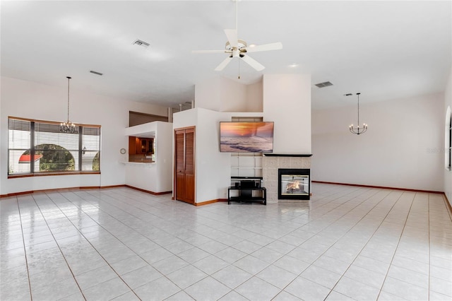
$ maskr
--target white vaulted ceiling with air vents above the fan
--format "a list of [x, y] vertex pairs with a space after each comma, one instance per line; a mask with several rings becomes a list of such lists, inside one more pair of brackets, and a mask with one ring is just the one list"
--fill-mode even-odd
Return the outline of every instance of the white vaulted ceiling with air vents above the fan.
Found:
[[[234, 59], [218, 72], [227, 54], [191, 50], [224, 49], [234, 1], [1, 1], [1, 75], [59, 86], [72, 76], [71, 89], [177, 108], [206, 78], [266, 73], [311, 73], [314, 110], [355, 104], [345, 93], [408, 98], [444, 91], [451, 11], [451, 1], [242, 0], [239, 38], [283, 49], [250, 54], [263, 71]], [[333, 86], [314, 86], [323, 81]]]

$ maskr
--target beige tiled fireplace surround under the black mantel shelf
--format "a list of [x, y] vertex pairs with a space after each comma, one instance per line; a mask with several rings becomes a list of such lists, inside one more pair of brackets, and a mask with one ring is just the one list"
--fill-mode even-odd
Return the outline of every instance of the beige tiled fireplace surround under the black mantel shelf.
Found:
[[307, 155], [264, 155], [262, 163], [263, 186], [267, 189], [267, 203], [293, 202], [295, 200], [278, 200], [278, 169], [311, 169], [311, 157]]

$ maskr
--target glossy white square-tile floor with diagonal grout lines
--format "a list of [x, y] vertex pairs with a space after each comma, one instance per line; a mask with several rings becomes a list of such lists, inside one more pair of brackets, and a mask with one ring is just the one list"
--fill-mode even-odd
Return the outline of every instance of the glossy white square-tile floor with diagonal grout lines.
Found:
[[313, 184], [191, 206], [128, 188], [0, 200], [0, 300], [452, 300], [444, 196]]

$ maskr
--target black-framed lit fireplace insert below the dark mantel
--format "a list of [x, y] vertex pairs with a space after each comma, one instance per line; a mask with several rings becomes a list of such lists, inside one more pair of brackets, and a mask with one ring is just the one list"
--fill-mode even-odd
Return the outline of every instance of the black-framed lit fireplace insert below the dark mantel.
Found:
[[311, 179], [309, 169], [278, 169], [278, 199], [309, 200]]

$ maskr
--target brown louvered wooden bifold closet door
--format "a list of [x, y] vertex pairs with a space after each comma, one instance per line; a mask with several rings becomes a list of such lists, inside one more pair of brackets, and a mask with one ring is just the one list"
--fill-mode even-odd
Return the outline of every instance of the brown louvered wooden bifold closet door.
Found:
[[174, 131], [174, 196], [179, 201], [195, 202], [195, 128]]

